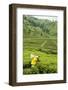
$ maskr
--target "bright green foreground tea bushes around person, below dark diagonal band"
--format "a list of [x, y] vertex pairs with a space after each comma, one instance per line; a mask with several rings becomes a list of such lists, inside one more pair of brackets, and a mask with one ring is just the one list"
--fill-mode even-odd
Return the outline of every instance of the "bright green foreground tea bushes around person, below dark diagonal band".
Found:
[[[37, 50], [26, 50], [24, 53], [24, 74], [45, 74], [45, 73], [57, 73], [57, 55], [54, 54], [45, 54]], [[28, 60], [30, 53], [33, 52], [37, 55], [40, 55], [40, 62], [35, 66], [31, 67], [31, 61]]]

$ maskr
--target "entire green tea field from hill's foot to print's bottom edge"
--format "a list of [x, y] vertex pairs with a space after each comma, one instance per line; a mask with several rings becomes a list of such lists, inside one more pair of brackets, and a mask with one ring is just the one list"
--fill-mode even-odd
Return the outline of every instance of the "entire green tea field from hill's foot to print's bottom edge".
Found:
[[[43, 45], [43, 41], [49, 41]], [[54, 42], [54, 43], [53, 43]], [[24, 74], [42, 74], [57, 72], [57, 54], [54, 46], [55, 40], [52, 39], [25, 39], [24, 40]], [[51, 45], [52, 44], [52, 47]], [[43, 46], [42, 46], [43, 45]], [[49, 47], [49, 46], [50, 47]], [[48, 47], [48, 48], [47, 48]], [[31, 67], [30, 54], [39, 56], [40, 62], [34, 68]]]

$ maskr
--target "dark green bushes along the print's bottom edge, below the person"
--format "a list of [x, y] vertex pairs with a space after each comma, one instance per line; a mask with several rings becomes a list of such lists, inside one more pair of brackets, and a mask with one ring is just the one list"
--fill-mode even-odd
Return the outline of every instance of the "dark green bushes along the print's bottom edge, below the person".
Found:
[[38, 63], [36, 66], [34, 67], [25, 67], [24, 74], [28, 75], [28, 74], [45, 74], [45, 73], [57, 73], [57, 66], [54, 64], [42, 64], [42, 63]]

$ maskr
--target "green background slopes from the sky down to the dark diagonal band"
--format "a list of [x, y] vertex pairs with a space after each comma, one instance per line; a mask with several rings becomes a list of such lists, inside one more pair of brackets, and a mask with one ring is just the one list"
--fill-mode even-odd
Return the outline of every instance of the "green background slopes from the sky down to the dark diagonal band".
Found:
[[57, 21], [24, 15], [24, 48], [57, 53]]

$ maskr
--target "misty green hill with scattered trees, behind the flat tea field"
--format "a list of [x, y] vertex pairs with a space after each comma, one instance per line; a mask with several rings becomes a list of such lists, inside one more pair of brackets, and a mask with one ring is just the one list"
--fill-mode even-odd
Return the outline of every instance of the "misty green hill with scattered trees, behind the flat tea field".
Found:
[[27, 38], [56, 38], [57, 21], [38, 19], [33, 16], [23, 16], [24, 37]]

